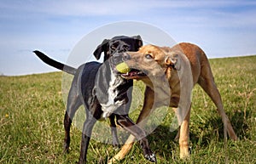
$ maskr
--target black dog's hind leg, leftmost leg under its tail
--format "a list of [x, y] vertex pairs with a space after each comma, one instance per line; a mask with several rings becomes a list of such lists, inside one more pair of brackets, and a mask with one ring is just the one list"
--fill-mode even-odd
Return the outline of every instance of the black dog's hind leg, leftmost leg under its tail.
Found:
[[68, 153], [70, 145], [70, 127], [72, 124], [73, 116], [79, 109], [82, 102], [79, 95], [76, 93], [76, 88], [71, 88], [67, 98], [67, 110], [64, 117], [65, 139], [64, 139], [64, 152]]

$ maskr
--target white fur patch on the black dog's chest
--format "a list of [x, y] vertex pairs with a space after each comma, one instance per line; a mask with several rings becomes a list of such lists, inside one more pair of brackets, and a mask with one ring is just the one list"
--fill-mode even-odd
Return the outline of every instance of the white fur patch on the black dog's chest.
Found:
[[110, 116], [114, 110], [117, 110], [120, 105], [124, 104], [124, 100], [122, 101], [114, 101], [114, 98], [118, 95], [118, 90], [116, 89], [122, 82], [122, 77], [114, 76], [113, 72], [111, 73], [111, 80], [109, 82], [108, 88], [108, 102], [102, 105], [102, 118], [107, 118]]

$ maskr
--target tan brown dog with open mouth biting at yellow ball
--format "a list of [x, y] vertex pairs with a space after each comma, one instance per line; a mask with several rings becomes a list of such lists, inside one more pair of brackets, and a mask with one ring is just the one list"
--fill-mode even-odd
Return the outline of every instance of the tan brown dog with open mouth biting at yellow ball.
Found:
[[[213, 80], [207, 56], [201, 48], [187, 42], [179, 43], [172, 48], [146, 45], [137, 52], [125, 53], [124, 60], [133, 69], [123, 76], [127, 79], [142, 80], [147, 86], [144, 94], [143, 110], [137, 123], [142, 122], [151, 110], [159, 106], [154, 105], [155, 101], [163, 100], [160, 96], [165, 94], [165, 90], [169, 89], [162, 87], [163, 92], [156, 93], [154, 88], [157, 88], [158, 84], [152, 82], [152, 78], [154, 78], [154, 81], [161, 82], [161, 74], [164, 73], [166, 76], [171, 95], [169, 106], [177, 108], [175, 111], [180, 126], [180, 133], [177, 137], [179, 137], [181, 158], [189, 157], [190, 94], [196, 83], [204, 89], [217, 106], [218, 113], [224, 122], [224, 138], [226, 139], [226, 132], [228, 132], [231, 139], [237, 139], [230, 120], [224, 112], [222, 99]], [[160, 71], [163, 73], [160, 73]], [[159, 80], [157, 80], [158, 78]], [[157, 92], [159, 91], [160, 89]], [[130, 136], [122, 150], [109, 163], [123, 159], [131, 150], [134, 140], [135, 138]]]

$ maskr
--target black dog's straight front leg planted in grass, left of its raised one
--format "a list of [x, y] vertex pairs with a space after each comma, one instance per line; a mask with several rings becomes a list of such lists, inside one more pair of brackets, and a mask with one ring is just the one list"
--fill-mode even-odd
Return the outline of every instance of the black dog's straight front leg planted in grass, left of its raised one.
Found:
[[90, 143], [90, 135], [92, 132], [92, 128], [96, 123], [96, 119], [93, 116], [88, 116], [88, 117], [89, 118], [86, 118], [84, 122], [84, 127], [83, 127], [79, 164], [86, 163], [86, 155], [87, 155], [88, 145]]

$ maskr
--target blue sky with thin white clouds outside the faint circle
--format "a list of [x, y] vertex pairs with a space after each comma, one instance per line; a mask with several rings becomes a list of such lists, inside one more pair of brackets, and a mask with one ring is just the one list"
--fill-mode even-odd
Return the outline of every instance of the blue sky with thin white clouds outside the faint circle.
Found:
[[39, 49], [66, 62], [75, 45], [91, 31], [128, 20], [154, 25], [176, 42], [196, 43], [209, 58], [252, 55], [256, 54], [255, 18], [256, 2], [248, 0], [3, 0], [0, 74], [56, 71], [32, 51]]

